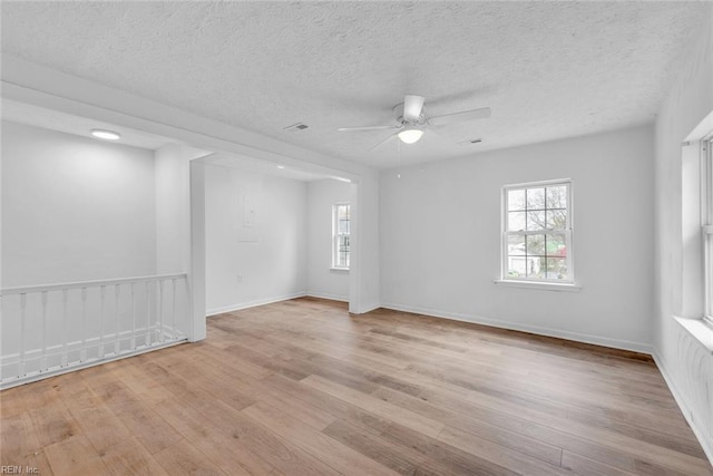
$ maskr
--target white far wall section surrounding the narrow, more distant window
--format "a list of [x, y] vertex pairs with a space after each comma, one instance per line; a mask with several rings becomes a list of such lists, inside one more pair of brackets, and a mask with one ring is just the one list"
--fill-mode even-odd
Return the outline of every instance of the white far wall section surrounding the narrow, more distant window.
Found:
[[[307, 183], [307, 294], [349, 301], [349, 271], [332, 266], [332, 205], [351, 203], [355, 185], [334, 179]], [[353, 210], [356, 204], [352, 204]]]

